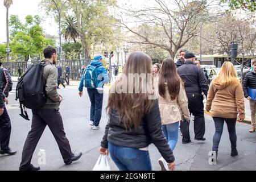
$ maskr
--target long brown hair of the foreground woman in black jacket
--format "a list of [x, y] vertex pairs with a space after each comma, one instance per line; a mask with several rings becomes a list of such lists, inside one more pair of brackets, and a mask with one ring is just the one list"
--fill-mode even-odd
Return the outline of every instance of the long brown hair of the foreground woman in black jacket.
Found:
[[[123, 122], [126, 129], [137, 128], [139, 122], [145, 113], [148, 113], [155, 103], [155, 100], [148, 99], [150, 93], [142, 93], [142, 86], [146, 84], [150, 88], [154, 88], [154, 78], [152, 77], [152, 61], [150, 56], [143, 52], [133, 52], [127, 59], [125, 67], [122, 71], [122, 76], [127, 78], [124, 81], [121, 77], [115, 81], [111, 90], [119, 88], [131, 88], [131, 90], [139, 89], [139, 93], [117, 93], [110, 92], [108, 106], [106, 107], [107, 113], [110, 114], [112, 110], [117, 111], [119, 122]], [[149, 74], [151, 80], [139, 79], [139, 85], [129, 80], [129, 74]], [[133, 84], [132, 84], [133, 83]], [[139, 88], [138, 88], [139, 86]]]

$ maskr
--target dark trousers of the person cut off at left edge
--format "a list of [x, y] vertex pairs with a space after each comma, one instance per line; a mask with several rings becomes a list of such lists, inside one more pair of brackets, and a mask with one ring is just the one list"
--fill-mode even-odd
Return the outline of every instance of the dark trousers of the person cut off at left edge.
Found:
[[0, 116], [0, 143], [1, 150], [9, 150], [11, 137], [11, 120], [6, 107], [3, 107], [3, 114]]

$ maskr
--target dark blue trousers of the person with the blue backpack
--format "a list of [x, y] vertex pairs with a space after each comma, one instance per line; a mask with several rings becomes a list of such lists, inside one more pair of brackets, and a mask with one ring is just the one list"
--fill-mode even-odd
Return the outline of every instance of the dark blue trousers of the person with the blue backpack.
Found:
[[100, 125], [103, 93], [98, 93], [97, 89], [87, 89], [90, 97], [90, 121], [93, 121], [94, 126]]

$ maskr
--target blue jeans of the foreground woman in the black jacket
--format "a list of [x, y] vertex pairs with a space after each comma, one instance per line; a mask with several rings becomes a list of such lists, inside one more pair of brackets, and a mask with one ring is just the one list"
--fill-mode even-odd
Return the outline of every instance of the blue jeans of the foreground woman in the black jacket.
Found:
[[109, 154], [120, 171], [152, 171], [148, 151], [109, 142]]

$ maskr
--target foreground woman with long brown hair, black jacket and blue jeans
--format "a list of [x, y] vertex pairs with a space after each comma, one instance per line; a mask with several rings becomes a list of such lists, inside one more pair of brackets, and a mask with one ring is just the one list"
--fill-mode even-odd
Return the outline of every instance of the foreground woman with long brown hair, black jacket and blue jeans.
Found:
[[151, 143], [167, 161], [168, 168], [175, 168], [174, 155], [161, 129], [158, 101], [150, 97], [153, 81], [150, 57], [133, 52], [110, 89], [109, 122], [100, 153], [110, 153], [121, 171], [150, 171], [148, 146]]

